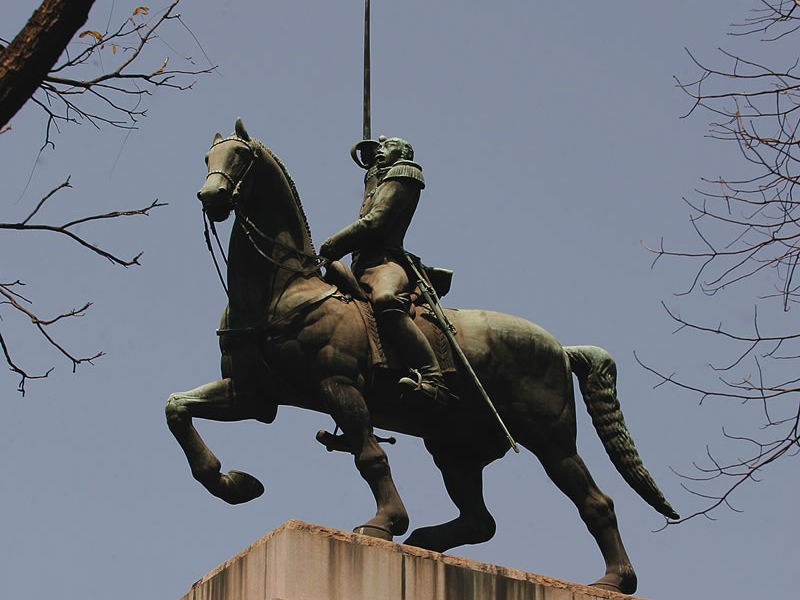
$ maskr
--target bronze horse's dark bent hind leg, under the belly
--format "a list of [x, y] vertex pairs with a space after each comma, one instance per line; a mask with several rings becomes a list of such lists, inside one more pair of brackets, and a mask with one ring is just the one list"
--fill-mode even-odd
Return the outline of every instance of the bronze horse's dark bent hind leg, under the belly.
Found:
[[[458, 517], [441, 525], [414, 530], [404, 542], [411, 546], [444, 552], [464, 544], [479, 544], [494, 536], [495, 522], [483, 499], [483, 468], [491, 460], [480, 460], [465, 448], [426, 443], [442, 473], [445, 488], [458, 508]], [[500, 453], [502, 454], [502, 452]]]

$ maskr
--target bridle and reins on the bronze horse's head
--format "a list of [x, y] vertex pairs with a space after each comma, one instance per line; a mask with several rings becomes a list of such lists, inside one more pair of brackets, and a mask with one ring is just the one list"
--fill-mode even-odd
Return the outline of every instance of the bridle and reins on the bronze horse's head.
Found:
[[[246, 214], [244, 214], [244, 212], [240, 209], [238, 199], [239, 199], [239, 195], [240, 195], [240, 192], [241, 192], [242, 184], [244, 183], [245, 179], [249, 175], [251, 169], [253, 168], [253, 165], [255, 164], [256, 159], [258, 158], [258, 151], [254, 146], [249, 144], [247, 142], [247, 140], [245, 140], [243, 138], [240, 138], [238, 135], [235, 135], [235, 134], [231, 135], [229, 137], [217, 140], [216, 142], [214, 142], [211, 145], [211, 148], [214, 148], [214, 147], [216, 147], [216, 146], [218, 146], [220, 144], [224, 144], [226, 142], [237, 142], [237, 143], [243, 144], [243, 145], [245, 145], [247, 147], [247, 149], [250, 151], [250, 160], [248, 161], [247, 166], [244, 169], [242, 169], [241, 174], [236, 179], [234, 179], [230, 175], [230, 173], [228, 173], [227, 171], [224, 171], [222, 169], [213, 169], [213, 170], [210, 170], [208, 172], [208, 174], [206, 175], [206, 180], [211, 175], [219, 175], [230, 184], [230, 186], [231, 186], [231, 194], [230, 194], [231, 209], [233, 210], [234, 214], [236, 215], [236, 217], [238, 219], [237, 222], [239, 223], [239, 226], [244, 231], [244, 234], [247, 237], [247, 239], [249, 240], [249, 242], [252, 245], [253, 249], [262, 258], [266, 259], [267, 261], [269, 261], [270, 263], [272, 263], [273, 265], [275, 265], [279, 269], [283, 269], [283, 270], [286, 270], [286, 271], [291, 271], [292, 273], [297, 273], [297, 274], [300, 274], [300, 275], [309, 275], [311, 273], [319, 273], [320, 269], [322, 267], [327, 266], [330, 263], [329, 259], [324, 258], [324, 257], [322, 257], [322, 256], [320, 256], [318, 254], [314, 254], [314, 253], [311, 253], [311, 252], [306, 252], [305, 250], [301, 250], [299, 248], [295, 248], [294, 246], [291, 246], [291, 245], [289, 245], [289, 244], [287, 244], [285, 242], [282, 242], [281, 240], [278, 240], [278, 239], [276, 239], [276, 238], [274, 238], [274, 237], [272, 237], [270, 235], [267, 235], [255, 223], [253, 223], [253, 221]], [[220, 269], [219, 262], [217, 260], [217, 256], [216, 256], [216, 254], [214, 252], [214, 248], [211, 245], [211, 239], [210, 239], [210, 236], [209, 236], [209, 229], [210, 229], [211, 233], [213, 234], [213, 236], [214, 236], [214, 238], [215, 238], [215, 240], [217, 242], [217, 246], [219, 248], [220, 254], [222, 255], [222, 259], [223, 259], [223, 262], [225, 263], [226, 267], [228, 266], [228, 258], [227, 258], [227, 256], [225, 256], [225, 252], [223, 250], [222, 243], [221, 243], [221, 241], [219, 239], [219, 236], [217, 235], [217, 231], [216, 231], [216, 227], [214, 226], [214, 222], [211, 219], [208, 218], [208, 214], [206, 213], [205, 209], [203, 210], [203, 223], [204, 223], [204, 229], [205, 229], [204, 236], [205, 236], [205, 240], [206, 240], [206, 247], [208, 248], [209, 252], [211, 253], [211, 258], [214, 261], [214, 266], [215, 266], [215, 268], [217, 270], [217, 275], [219, 276], [220, 283], [222, 284], [222, 288], [225, 290], [225, 294], [228, 295], [228, 286], [225, 284], [225, 279], [222, 276], [222, 270]], [[309, 266], [306, 266], [306, 267], [299, 267], [298, 268], [298, 267], [294, 267], [294, 266], [291, 266], [291, 265], [287, 265], [287, 264], [285, 264], [285, 263], [283, 263], [281, 261], [275, 260], [269, 254], [264, 252], [264, 250], [261, 249], [261, 246], [258, 243], [258, 239], [263, 240], [263, 241], [265, 241], [265, 242], [267, 242], [269, 244], [272, 244], [273, 246], [279, 246], [280, 248], [283, 248], [284, 250], [287, 250], [291, 254], [294, 254], [298, 258], [304, 258], [304, 259], [311, 260], [312, 264], [309, 265]]]

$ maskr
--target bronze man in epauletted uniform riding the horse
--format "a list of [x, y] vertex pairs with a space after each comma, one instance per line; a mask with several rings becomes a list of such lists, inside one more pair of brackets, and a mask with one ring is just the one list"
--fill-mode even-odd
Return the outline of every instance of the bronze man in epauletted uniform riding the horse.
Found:
[[414, 150], [406, 140], [379, 139], [373, 146], [374, 164], [365, 177], [358, 220], [328, 238], [320, 255], [333, 260], [353, 253], [353, 273], [369, 296], [378, 325], [414, 375], [401, 378], [399, 385], [446, 403], [455, 396], [445, 386], [428, 340], [409, 314], [414, 286], [403, 238], [425, 187], [422, 167], [413, 162]]

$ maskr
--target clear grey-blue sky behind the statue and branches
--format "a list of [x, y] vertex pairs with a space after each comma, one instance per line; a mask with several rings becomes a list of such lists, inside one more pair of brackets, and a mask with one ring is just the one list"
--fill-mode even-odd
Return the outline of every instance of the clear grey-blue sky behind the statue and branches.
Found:
[[[10, 38], [38, 2], [7, 4], [0, 35]], [[681, 198], [734, 164], [731, 148], [704, 138], [705, 117], [679, 119], [689, 101], [672, 76], [693, 73], [684, 46], [714, 57], [730, 43], [728, 24], [755, 4], [373, 2], [373, 130], [411, 140], [428, 182], [409, 248], [456, 271], [449, 305], [518, 314], [564, 344], [611, 351], [645, 464], [686, 514], [702, 501], [671, 469], [691, 472], [706, 444], [735, 455], [722, 427], [752, 433], [760, 415], [654, 389], [633, 352], [667, 372], [706, 376], [726, 348], [673, 335], [660, 301], [745, 324], [752, 302], [746, 294], [713, 306], [673, 297], [689, 282], [689, 265], [651, 270], [642, 242], [694, 244]], [[112, 7], [114, 21], [134, 6], [98, 1], [89, 26], [102, 29]], [[27, 214], [67, 175], [74, 188], [45, 213], [54, 220], [169, 203], [147, 219], [84, 230], [120, 253], [144, 250], [137, 268], [44, 235], [0, 238], [0, 279], [24, 279], [45, 314], [92, 300], [59, 335], [77, 351], [107, 352], [73, 375], [26, 335], [29, 325], [3, 321], [21, 362], [57, 369], [29, 383], [25, 398], [13, 374], [0, 375], [1, 597], [177, 598], [288, 519], [350, 529], [371, 516], [351, 458], [314, 441], [317, 429], [332, 427], [329, 418], [282, 408], [271, 426], [201, 422], [226, 469], [266, 485], [263, 497], [237, 507], [191, 478], [163, 418], [170, 392], [219, 372], [214, 330], [225, 298], [195, 199], [213, 134], [244, 117], [292, 172], [317, 244], [356, 215], [362, 172], [348, 150], [361, 134], [362, 10], [360, 0], [186, 2], [184, 21], [219, 70], [190, 92], [155, 94], [138, 131], [67, 127], [37, 159], [44, 118], [29, 104], [0, 136], [0, 220]], [[170, 31], [171, 48], [154, 46], [153, 64], [174, 53], [208, 64], [185, 31]], [[742, 514], [719, 511], [716, 521], [655, 533], [662, 518], [613, 471], [582, 405], [578, 413], [580, 451], [615, 500], [640, 595], [792, 594], [795, 463], [742, 489]], [[401, 437], [389, 458], [412, 527], [453, 517], [419, 440]], [[577, 582], [601, 575], [575, 509], [532, 455], [490, 466], [485, 488], [497, 535], [453, 554]]]

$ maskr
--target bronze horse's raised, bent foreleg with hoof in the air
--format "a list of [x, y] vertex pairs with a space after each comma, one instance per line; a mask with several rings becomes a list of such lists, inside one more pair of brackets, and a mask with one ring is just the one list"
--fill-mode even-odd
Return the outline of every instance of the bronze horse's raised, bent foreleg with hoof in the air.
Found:
[[264, 493], [264, 486], [241, 471], [220, 472], [221, 463], [208, 449], [192, 424], [192, 417], [215, 421], [240, 421], [254, 418], [234, 403], [233, 383], [220, 379], [188, 392], [171, 394], [165, 408], [169, 430], [178, 440], [189, 461], [194, 478], [225, 502], [241, 504]]

